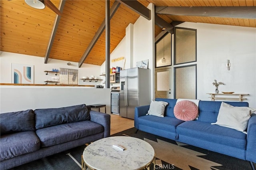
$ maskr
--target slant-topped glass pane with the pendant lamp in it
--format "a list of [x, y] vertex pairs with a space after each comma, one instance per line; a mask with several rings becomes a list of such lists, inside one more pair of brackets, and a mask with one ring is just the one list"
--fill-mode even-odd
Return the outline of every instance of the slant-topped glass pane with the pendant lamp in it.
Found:
[[155, 43], [155, 67], [172, 65], [172, 34], [165, 34]]

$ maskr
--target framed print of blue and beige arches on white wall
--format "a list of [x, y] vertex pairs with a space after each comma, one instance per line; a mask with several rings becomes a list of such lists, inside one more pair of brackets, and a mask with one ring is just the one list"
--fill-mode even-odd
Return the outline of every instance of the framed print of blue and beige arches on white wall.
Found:
[[12, 83], [34, 84], [34, 65], [12, 63]]

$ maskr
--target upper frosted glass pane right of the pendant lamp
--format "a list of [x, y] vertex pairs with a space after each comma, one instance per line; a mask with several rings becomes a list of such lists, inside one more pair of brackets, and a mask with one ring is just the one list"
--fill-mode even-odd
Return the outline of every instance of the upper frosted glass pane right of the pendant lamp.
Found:
[[196, 30], [174, 29], [174, 65], [196, 61]]

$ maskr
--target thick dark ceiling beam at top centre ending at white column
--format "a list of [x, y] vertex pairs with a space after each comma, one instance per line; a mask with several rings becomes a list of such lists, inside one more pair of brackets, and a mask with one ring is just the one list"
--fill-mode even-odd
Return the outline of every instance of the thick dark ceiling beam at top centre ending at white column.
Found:
[[148, 9], [146, 6], [140, 4], [140, 2], [136, 0], [117, 0], [120, 2], [122, 5], [127, 6], [134, 12], [140, 14], [147, 20], [151, 20], [151, 10]]

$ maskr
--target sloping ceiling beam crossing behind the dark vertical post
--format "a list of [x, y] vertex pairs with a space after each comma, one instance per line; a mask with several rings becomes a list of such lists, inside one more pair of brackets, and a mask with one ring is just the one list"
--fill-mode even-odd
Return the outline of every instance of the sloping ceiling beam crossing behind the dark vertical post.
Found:
[[[120, 6], [120, 3], [115, 1], [114, 4], [112, 5], [112, 7], [110, 8], [110, 19], [112, 18], [112, 16], [114, 16], [114, 14], [115, 14], [115, 12], [116, 12], [116, 10], [118, 9], [119, 6]], [[104, 31], [105, 27], [106, 27], [106, 24], [105, 24], [105, 19], [104, 19], [104, 21], [100, 25], [100, 28], [98, 29], [98, 31], [96, 32], [96, 34], [92, 38], [92, 41], [90, 42], [90, 44], [88, 45], [84, 54], [82, 55], [81, 59], [79, 60], [78, 67], [81, 67], [83, 65], [86, 57], [89, 55], [89, 53], [92, 50], [92, 48], [94, 47], [95, 43], [100, 38], [100, 36], [101, 36], [102, 32]]]

